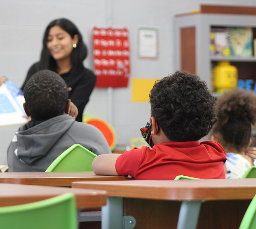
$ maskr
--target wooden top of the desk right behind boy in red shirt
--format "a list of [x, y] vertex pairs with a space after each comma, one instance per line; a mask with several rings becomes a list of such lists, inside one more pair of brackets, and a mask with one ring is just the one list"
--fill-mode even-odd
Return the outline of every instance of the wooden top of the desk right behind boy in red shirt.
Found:
[[256, 194], [256, 178], [72, 182], [72, 187], [106, 190], [108, 196], [154, 200], [242, 200]]

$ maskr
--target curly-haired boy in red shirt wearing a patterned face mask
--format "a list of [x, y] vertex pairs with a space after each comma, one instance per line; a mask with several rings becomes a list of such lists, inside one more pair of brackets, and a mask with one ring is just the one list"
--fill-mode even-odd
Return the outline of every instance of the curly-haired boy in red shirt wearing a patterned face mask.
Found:
[[155, 83], [150, 104], [150, 119], [141, 134], [152, 148], [99, 155], [92, 163], [95, 174], [128, 175], [136, 180], [178, 175], [224, 179], [223, 147], [213, 141], [198, 141], [216, 122], [216, 101], [206, 83], [197, 75], [175, 72]]

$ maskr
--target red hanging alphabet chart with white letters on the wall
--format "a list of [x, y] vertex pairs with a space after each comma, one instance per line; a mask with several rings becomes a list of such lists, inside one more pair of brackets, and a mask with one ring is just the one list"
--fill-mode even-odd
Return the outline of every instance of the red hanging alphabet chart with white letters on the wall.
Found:
[[94, 27], [92, 39], [96, 87], [127, 87], [130, 75], [127, 29]]

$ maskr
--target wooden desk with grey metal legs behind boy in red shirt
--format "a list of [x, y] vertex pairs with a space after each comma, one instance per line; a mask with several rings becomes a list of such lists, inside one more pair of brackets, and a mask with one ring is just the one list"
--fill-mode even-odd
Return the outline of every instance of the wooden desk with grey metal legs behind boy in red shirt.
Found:
[[95, 181], [72, 187], [107, 191], [102, 229], [122, 228], [123, 214], [135, 217], [136, 229], [236, 229], [256, 194], [256, 179]]

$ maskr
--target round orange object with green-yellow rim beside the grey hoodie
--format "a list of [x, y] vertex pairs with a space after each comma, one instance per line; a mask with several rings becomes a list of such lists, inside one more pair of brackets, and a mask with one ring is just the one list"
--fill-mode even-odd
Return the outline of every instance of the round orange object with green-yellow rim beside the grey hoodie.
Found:
[[116, 132], [109, 122], [107, 122], [103, 118], [95, 117], [88, 114], [83, 116], [82, 122], [88, 123], [97, 127], [106, 138], [111, 151], [114, 150], [116, 146]]

